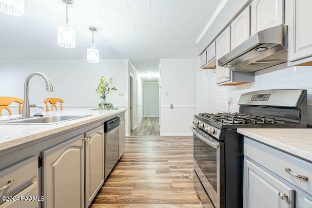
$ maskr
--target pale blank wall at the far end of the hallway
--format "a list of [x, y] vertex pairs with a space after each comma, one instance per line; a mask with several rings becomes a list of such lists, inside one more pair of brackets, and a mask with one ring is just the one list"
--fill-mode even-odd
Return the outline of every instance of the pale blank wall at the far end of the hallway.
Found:
[[143, 84], [144, 117], [159, 116], [159, 85], [158, 82]]

